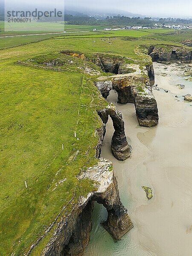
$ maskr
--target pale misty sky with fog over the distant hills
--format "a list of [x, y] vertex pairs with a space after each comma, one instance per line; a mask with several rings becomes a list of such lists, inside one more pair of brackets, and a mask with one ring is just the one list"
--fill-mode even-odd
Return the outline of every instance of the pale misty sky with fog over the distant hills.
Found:
[[[192, 0], [6, 0], [12, 8], [31, 7], [37, 8], [58, 8], [65, 6], [65, 12], [72, 15], [89, 15], [93, 17], [107, 17], [113, 15], [125, 15], [129, 17], [192, 17]], [[0, 0], [2, 9], [3, 0]], [[15, 7], [16, 8], [16, 7]]]

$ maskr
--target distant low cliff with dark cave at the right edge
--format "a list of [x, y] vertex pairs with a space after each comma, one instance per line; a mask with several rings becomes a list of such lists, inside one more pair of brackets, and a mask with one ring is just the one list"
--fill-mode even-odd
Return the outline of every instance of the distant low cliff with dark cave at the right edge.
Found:
[[173, 63], [181, 61], [183, 63], [192, 62], [192, 50], [185, 47], [172, 45], [151, 46], [148, 49], [148, 55], [153, 61], [162, 63]]

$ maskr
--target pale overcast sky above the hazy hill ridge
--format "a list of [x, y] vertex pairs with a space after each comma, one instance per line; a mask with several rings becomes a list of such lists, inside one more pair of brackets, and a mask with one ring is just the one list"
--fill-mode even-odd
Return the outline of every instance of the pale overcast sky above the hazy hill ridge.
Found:
[[153, 17], [192, 17], [192, 0], [5, 0], [5, 3], [12, 8], [23, 6], [25, 9], [27, 6], [39, 9], [40, 5], [58, 9], [65, 3], [66, 9], [79, 12], [84, 9], [106, 13], [121, 10]]

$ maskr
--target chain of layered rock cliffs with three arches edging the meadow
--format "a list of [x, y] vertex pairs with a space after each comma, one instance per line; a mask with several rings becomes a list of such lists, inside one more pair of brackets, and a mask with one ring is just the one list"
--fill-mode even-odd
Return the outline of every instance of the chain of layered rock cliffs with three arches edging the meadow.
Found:
[[[128, 64], [125, 58], [119, 56], [109, 56], [104, 54], [92, 55], [91, 60], [85, 54], [79, 52], [62, 52], [67, 58], [76, 57], [82, 61], [81, 69], [90, 70], [89, 63], [84, 65], [84, 61], [92, 61], [95, 68], [99, 69], [99, 73], [87, 72], [90, 76], [102, 74], [102, 71], [116, 74], [115, 76], [105, 76], [103, 79], [96, 81], [96, 86], [102, 93], [102, 96], [106, 99], [111, 89], [115, 89], [118, 92], [118, 100], [121, 103], [132, 102], [136, 108], [136, 115], [140, 125], [154, 126], [158, 123], [158, 110], [157, 102], [154, 99], [151, 86], [154, 84], [154, 71], [153, 66], [148, 65], [146, 67], [140, 67], [139, 64]], [[59, 56], [52, 61], [42, 60], [41, 68], [53, 68], [54, 70], [63, 71], [61, 67], [65, 67], [66, 64], [60, 60]], [[91, 57], [91, 58], [92, 58]], [[33, 61], [34, 60], [30, 60]], [[62, 63], [61, 63], [62, 62]], [[70, 59], [67, 61], [73, 63]], [[21, 64], [21, 63], [20, 63]], [[26, 62], [25, 62], [26, 64]], [[41, 64], [41, 63], [40, 63]], [[99, 67], [95, 67], [96, 65]], [[34, 63], [27, 63], [27, 65], [34, 65]], [[43, 66], [44, 65], [44, 66]], [[59, 68], [55, 68], [55, 66]], [[88, 65], [88, 66], [87, 66]], [[54, 67], [52, 67], [54, 66]], [[65, 67], [66, 68], [66, 67]], [[79, 68], [76, 67], [76, 68]], [[106, 75], [106, 74], [105, 74]], [[97, 94], [98, 95], [98, 94]], [[106, 104], [107, 105], [107, 104]], [[105, 104], [103, 106], [106, 106]], [[98, 111], [98, 114], [102, 120], [102, 125], [97, 130], [98, 144], [96, 146], [97, 158], [100, 157], [102, 142], [105, 137], [106, 123], [109, 116], [113, 121], [114, 134], [111, 140], [111, 149], [114, 157], [118, 160], [125, 160], [131, 156], [131, 146], [128, 144], [125, 136], [124, 121], [122, 114], [112, 104], [108, 107], [104, 107]], [[95, 157], [94, 156], [94, 157]], [[88, 163], [88, 162], [87, 162]], [[84, 167], [83, 167], [84, 168]], [[46, 230], [46, 233], [41, 236], [34, 244], [31, 245], [28, 253], [30, 255], [32, 250], [41, 239], [50, 240], [41, 252], [42, 256], [81, 256], [84, 249], [87, 246], [90, 239], [90, 230], [92, 228], [91, 215], [93, 212], [93, 204], [97, 201], [102, 204], [108, 211], [108, 218], [103, 223], [103, 227], [113, 236], [114, 239], [121, 239], [125, 233], [127, 233], [133, 224], [128, 216], [127, 209], [123, 206], [120, 198], [116, 178], [113, 174], [113, 166], [109, 160], [99, 158], [98, 163], [95, 166], [89, 167], [86, 170], [81, 170], [81, 174], [78, 176], [79, 180], [89, 179], [93, 182], [93, 187], [90, 187], [87, 196], [80, 196], [78, 194], [79, 201], [77, 204], [71, 204], [75, 198], [73, 198], [68, 204], [71, 204], [73, 209], [70, 212], [65, 212], [65, 215], [59, 213], [54, 222]], [[76, 187], [76, 184], [74, 185]], [[93, 189], [95, 188], [95, 190]], [[93, 191], [94, 190], [94, 191]], [[77, 199], [77, 198], [76, 198]], [[65, 208], [65, 206], [64, 206]], [[63, 208], [63, 209], [64, 209]], [[52, 229], [52, 232], [49, 232]], [[49, 235], [47, 236], [47, 234]], [[45, 241], [45, 240], [44, 240]], [[48, 240], [46, 240], [48, 241]]]

